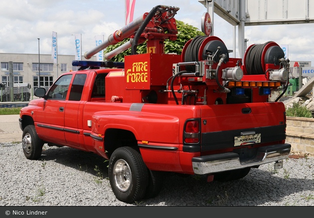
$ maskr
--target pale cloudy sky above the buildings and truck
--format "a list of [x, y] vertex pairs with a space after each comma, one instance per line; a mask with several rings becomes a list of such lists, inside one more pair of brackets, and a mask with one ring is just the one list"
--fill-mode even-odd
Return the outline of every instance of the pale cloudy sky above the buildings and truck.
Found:
[[[206, 8], [198, 0], [136, 0], [134, 19], [157, 4], [180, 7], [175, 18], [200, 29]], [[51, 53], [52, 31], [58, 34], [58, 54], [75, 54], [74, 36], [82, 34], [82, 50], [95, 47], [95, 35], [105, 39], [124, 26], [124, 0], [0, 0], [0, 52]], [[214, 17], [214, 34], [233, 48], [232, 25]], [[314, 23], [250, 26], [248, 46], [269, 40], [289, 44], [289, 59], [314, 62]], [[238, 53], [236, 54], [239, 57]]]

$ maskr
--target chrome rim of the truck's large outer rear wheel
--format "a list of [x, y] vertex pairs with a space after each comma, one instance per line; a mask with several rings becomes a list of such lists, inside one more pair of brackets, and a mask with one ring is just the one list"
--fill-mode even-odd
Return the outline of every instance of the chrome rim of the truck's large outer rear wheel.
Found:
[[114, 165], [113, 174], [116, 187], [121, 192], [128, 191], [132, 180], [129, 164], [125, 160], [119, 159]]

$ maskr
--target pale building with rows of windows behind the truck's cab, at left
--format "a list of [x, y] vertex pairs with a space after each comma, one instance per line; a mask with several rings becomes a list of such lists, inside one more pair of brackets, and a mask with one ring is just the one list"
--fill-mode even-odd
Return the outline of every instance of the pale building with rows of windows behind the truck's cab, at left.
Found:
[[[57, 65], [52, 62], [51, 54], [40, 54], [39, 58], [38, 54], [0, 53], [0, 82], [6, 83], [8, 86], [8, 62], [12, 61], [13, 82], [29, 83], [35, 90], [38, 87], [38, 63], [40, 62], [40, 87], [48, 90], [62, 73], [77, 70], [77, 67], [72, 66], [73, 60], [75, 60], [75, 55], [58, 55]], [[83, 57], [83, 60], [86, 59]], [[93, 56], [90, 60], [96, 60], [96, 56]]]

